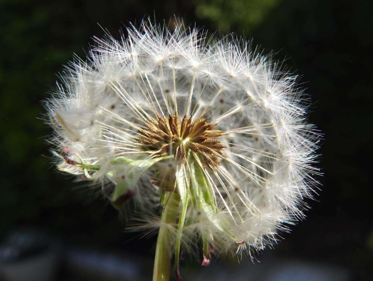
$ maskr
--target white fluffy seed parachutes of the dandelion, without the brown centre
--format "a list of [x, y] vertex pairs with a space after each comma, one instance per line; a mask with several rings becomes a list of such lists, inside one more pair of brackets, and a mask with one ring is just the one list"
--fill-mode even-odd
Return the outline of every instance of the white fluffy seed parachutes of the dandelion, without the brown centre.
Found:
[[[110, 176], [110, 161], [156, 157], [137, 141], [147, 121], [176, 110], [181, 118], [184, 113], [207, 118], [214, 130], [224, 132], [219, 140], [226, 148], [216, 169], [201, 166], [215, 213], [208, 216], [190, 204], [185, 250], [201, 236], [216, 251], [272, 244], [279, 231], [304, 217], [304, 199], [317, 188], [313, 164], [320, 134], [307, 123], [308, 96], [296, 77], [244, 40], [213, 41], [182, 23], [170, 30], [144, 21], [140, 29], [127, 31], [119, 41], [110, 35], [95, 38], [88, 61], [71, 62], [46, 102], [54, 128], [51, 142], [62, 155], [59, 169], [101, 183], [110, 195], [126, 173], [123, 167]], [[84, 170], [74, 162], [101, 168]], [[180, 167], [171, 159], [157, 165], [164, 171]], [[182, 166], [189, 179], [188, 162]], [[134, 186], [135, 202], [146, 209], [136, 215], [139, 229], [149, 231], [164, 224], [154, 215], [159, 188], [151, 184], [153, 172], [150, 168]], [[175, 224], [170, 229], [175, 235]]]

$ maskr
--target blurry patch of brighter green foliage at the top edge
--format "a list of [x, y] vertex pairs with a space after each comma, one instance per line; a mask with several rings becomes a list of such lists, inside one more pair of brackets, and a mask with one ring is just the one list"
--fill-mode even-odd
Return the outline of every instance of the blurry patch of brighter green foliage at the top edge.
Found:
[[214, 23], [220, 32], [250, 32], [258, 27], [282, 0], [200, 0], [195, 15]]

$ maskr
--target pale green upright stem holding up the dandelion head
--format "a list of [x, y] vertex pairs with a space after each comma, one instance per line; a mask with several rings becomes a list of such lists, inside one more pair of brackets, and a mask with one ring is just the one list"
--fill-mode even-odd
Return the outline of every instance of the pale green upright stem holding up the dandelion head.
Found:
[[153, 281], [168, 281], [170, 279], [173, 232], [168, 224], [176, 223], [179, 210], [180, 196], [172, 192], [170, 200], [161, 217], [162, 225], [159, 228], [156, 256], [154, 258]]

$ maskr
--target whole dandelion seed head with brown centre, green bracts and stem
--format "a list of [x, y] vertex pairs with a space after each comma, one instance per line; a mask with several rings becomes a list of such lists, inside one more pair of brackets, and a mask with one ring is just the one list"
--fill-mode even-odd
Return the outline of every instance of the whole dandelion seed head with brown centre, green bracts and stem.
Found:
[[94, 38], [46, 101], [58, 169], [90, 180], [137, 229], [158, 231], [153, 280], [181, 250], [272, 246], [317, 188], [320, 138], [297, 77], [245, 40], [143, 21]]

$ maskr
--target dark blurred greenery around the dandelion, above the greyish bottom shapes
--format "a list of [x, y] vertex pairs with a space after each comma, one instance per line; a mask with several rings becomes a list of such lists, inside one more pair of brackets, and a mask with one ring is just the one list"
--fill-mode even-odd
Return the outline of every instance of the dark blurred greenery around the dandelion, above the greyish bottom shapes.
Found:
[[[104, 34], [97, 23], [118, 38], [121, 22], [154, 12], [167, 21], [175, 13], [186, 24], [251, 36], [254, 46], [279, 51], [277, 59], [303, 74], [314, 102], [310, 120], [325, 133], [323, 191], [320, 202], [310, 202], [307, 222], [285, 234], [277, 252], [339, 263], [369, 280], [372, 214], [362, 209], [372, 198], [372, 6], [364, 0], [1, 0], [0, 238], [23, 226], [93, 244], [129, 238], [97, 192], [55, 172], [40, 101], [72, 54], [84, 57], [90, 38]], [[153, 244], [143, 239], [125, 247], [148, 254]]]

